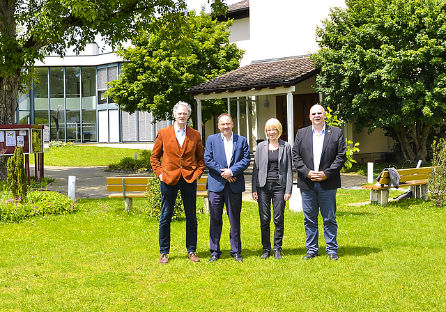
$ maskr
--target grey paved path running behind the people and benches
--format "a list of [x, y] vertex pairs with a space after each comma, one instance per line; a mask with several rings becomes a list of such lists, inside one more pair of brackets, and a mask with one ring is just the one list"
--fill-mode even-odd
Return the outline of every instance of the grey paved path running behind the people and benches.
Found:
[[[95, 167], [59, 167], [45, 166], [45, 176], [55, 179], [47, 189], [49, 191], [68, 194], [68, 176], [76, 177], [76, 198], [100, 198], [107, 197], [107, 185], [105, 178], [108, 176], [148, 176], [148, 173], [116, 173], [105, 171], [107, 166]], [[33, 167], [31, 166], [31, 172]], [[251, 175], [245, 175], [246, 192], [243, 192], [243, 201], [252, 201], [251, 196]], [[360, 188], [360, 185], [367, 182], [366, 176], [355, 174], [342, 174], [342, 187], [347, 189]]]

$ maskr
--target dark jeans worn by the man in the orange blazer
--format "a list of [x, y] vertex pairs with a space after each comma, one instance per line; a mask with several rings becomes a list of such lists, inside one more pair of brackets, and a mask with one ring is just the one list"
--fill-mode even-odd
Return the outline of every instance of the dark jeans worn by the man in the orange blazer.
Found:
[[183, 176], [176, 185], [167, 185], [161, 182], [161, 217], [158, 240], [160, 242], [160, 253], [170, 251], [170, 222], [178, 190], [183, 199], [184, 212], [186, 215], [186, 247], [187, 252], [197, 251], [197, 180], [187, 183]]

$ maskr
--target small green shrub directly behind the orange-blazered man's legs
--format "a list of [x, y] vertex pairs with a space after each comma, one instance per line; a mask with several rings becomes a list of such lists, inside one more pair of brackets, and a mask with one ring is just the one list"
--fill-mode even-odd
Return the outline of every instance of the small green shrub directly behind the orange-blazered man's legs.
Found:
[[[148, 179], [147, 182], [147, 202], [146, 207], [141, 210], [143, 214], [149, 217], [155, 218], [157, 220], [161, 217], [161, 189], [160, 189], [160, 179], [158, 179], [155, 174], [153, 174], [152, 179]], [[176, 221], [184, 217], [183, 200], [181, 199], [180, 192], [176, 196], [174, 214], [172, 214], [172, 220]]]

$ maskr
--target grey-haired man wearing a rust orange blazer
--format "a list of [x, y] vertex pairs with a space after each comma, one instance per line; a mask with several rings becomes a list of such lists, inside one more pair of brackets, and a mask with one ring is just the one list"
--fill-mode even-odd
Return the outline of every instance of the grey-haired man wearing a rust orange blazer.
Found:
[[[169, 263], [170, 223], [178, 190], [186, 215], [187, 257], [199, 262], [197, 251], [197, 180], [203, 174], [204, 158], [201, 135], [187, 127], [190, 105], [174, 106], [175, 123], [158, 131], [151, 154], [151, 164], [161, 180], [161, 217], [159, 226], [160, 263]], [[162, 160], [161, 160], [162, 159]]]

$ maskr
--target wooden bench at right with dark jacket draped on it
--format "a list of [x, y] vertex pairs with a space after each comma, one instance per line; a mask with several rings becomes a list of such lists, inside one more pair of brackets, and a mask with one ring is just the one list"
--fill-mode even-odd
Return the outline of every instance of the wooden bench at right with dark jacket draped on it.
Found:
[[[433, 167], [399, 169], [401, 178], [399, 187], [413, 187], [413, 198], [427, 199], [427, 183]], [[389, 201], [390, 178], [389, 171], [384, 171], [378, 181], [379, 185], [362, 185], [363, 189], [370, 189], [370, 203], [387, 205]]]

